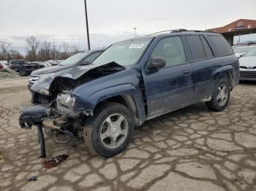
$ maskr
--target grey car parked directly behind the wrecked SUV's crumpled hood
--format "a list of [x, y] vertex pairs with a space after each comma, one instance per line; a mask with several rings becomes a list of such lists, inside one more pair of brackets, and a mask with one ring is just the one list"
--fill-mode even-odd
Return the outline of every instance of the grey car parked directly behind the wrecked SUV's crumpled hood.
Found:
[[67, 58], [66, 60], [59, 63], [58, 66], [51, 66], [47, 67], [45, 69], [39, 69], [37, 71], [33, 71], [31, 73], [28, 87], [30, 89], [31, 85], [34, 84], [40, 77], [48, 75], [48, 74], [54, 74], [59, 71], [64, 71], [66, 69], [73, 68], [75, 66], [83, 66], [89, 63], [92, 63], [95, 58], [99, 56], [99, 54], [102, 52], [102, 50], [88, 50], [79, 52], [78, 54], [72, 55], [71, 57]]

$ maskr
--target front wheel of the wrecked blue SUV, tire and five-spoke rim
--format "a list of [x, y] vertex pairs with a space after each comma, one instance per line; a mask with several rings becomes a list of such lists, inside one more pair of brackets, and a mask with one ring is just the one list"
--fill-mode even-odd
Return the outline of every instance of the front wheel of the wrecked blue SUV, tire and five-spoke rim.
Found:
[[[116, 128], [119, 123], [120, 128]], [[122, 104], [110, 102], [99, 106], [94, 116], [88, 118], [83, 128], [83, 137], [91, 154], [113, 157], [126, 149], [132, 140], [134, 128], [129, 109]], [[116, 136], [119, 131], [124, 135]], [[113, 141], [115, 139], [116, 142]]]

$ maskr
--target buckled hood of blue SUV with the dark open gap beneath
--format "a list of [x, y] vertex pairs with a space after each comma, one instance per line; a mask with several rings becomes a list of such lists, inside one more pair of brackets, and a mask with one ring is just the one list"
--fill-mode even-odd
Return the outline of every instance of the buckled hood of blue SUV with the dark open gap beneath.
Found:
[[80, 66], [73, 69], [67, 69], [57, 74], [53, 74], [43, 79], [39, 79], [31, 87], [32, 104], [49, 104], [56, 101], [59, 93], [68, 93], [75, 87], [83, 85], [91, 80], [105, 77], [124, 70], [115, 62], [107, 63], [102, 66]]

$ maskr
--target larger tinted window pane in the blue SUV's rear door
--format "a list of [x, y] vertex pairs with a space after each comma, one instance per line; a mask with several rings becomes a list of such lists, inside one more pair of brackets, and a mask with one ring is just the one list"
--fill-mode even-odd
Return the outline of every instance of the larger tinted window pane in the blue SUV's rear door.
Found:
[[200, 60], [206, 58], [206, 53], [203, 49], [203, 44], [200, 40], [199, 35], [189, 35], [187, 36], [187, 41], [189, 42], [189, 47], [192, 53], [193, 60]]

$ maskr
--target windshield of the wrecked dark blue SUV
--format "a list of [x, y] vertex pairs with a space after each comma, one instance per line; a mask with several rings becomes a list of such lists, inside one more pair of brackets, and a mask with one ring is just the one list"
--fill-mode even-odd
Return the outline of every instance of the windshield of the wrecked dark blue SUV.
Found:
[[143, 52], [146, 50], [152, 38], [131, 39], [118, 42], [110, 46], [107, 50], [93, 62], [96, 65], [116, 62], [121, 66], [130, 66], [138, 62]]

